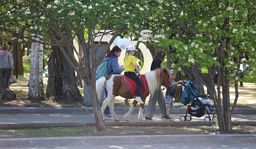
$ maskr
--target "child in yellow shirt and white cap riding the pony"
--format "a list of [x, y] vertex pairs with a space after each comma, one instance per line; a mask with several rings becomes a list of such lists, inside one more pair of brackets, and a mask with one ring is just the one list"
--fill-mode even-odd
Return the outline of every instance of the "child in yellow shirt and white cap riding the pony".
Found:
[[[133, 56], [135, 55], [135, 51], [138, 51], [138, 49], [135, 49], [133, 46], [127, 47], [127, 54], [126, 57], [124, 57], [124, 76], [132, 78], [132, 80], [137, 83], [137, 94], [135, 101], [144, 104], [140, 98], [142, 91], [142, 81], [140, 79], [140, 70], [138, 68], [136, 58]], [[138, 75], [135, 73], [135, 70], [138, 72]]]

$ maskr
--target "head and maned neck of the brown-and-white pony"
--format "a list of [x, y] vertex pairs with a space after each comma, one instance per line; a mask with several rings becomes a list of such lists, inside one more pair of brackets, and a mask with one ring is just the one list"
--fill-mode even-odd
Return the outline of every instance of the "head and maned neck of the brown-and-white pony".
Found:
[[163, 76], [165, 75], [165, 72], [169, 72], [168, 75], [170, 76], [170, 71], [168, 71], [167, 68], [157, 68], [154, 71], [145, 73], [145, 78], [148, 83], [148, 91], [149, 94], [151, 94], [151, 96], [154, 95], [154, 92], [162, 84], [162, 79]]

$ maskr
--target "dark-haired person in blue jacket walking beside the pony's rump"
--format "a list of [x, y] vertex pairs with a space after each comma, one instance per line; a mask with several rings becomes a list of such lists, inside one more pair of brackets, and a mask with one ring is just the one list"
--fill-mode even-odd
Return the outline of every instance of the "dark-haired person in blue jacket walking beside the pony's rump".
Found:
[[[108, 61], [108, 76], [120, 74], [122, 71], [124, 71], [124, 66], [119, 66], [118, 64], [118, 57], [120, 57], [120, 55], [121, 49], [118, 46], [115, 46], [104, 58], [105, 61]], [[105, 89], [105, 98], [106, 97], [108, 97], [107, 89]], [[104, 110], [103, 118], [105, 120], [112, 119], [110, 116], [110, 108], [108, 106]]]

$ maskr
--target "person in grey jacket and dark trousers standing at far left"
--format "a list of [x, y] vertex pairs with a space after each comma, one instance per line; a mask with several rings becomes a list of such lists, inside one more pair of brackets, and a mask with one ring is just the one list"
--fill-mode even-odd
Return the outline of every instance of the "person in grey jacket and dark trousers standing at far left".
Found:
[[12, 55], [8, 51], [9, 44], [4, 43], [0, 51], [0, 73], [1, 76], [4, 78], [4, 81], [8, 85], [9, 77], [13, 71], [13, 62], [12, 62]]

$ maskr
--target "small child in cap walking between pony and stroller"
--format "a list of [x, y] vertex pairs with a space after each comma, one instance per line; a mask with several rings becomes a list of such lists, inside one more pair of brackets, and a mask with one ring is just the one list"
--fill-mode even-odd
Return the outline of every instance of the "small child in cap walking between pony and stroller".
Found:
[[168, 113], [168, 116], [170, 116], [170, 113], [173, 110], [173, 97], [176, 96], [176, 87], [182, 86], [181, 83], [182, 81], [174, 81], [176, 78], [176, 73], [173, 73], [173, 70], [170, 70], [170, 81], [172, 82], [172, 85], [167, 87], [166, 93], [165, 93], [165, 105], [166, 105], [166, 110]]

